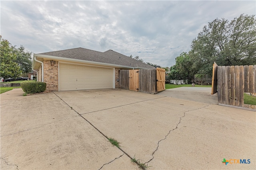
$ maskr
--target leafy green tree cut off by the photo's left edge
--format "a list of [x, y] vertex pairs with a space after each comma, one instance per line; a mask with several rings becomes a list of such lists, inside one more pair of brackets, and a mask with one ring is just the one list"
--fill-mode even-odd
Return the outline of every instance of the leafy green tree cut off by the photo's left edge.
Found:
[[7, 40], [2, 39], [0, 35], [0, 75], [3, 78], [17, 78], [21, 75], [22, 71], [20, 66], [15, 63], [17, 55], [15, 47], [13, 47]]

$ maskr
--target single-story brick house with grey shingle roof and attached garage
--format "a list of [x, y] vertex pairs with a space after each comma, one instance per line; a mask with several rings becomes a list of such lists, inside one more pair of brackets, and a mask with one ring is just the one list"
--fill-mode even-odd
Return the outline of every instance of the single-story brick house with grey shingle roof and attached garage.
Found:
[[32, 69], [46, 90], [65, 91], [118, 88], [119, 70], [155, 68], [112, 50], [74, 48], [34, 54]]

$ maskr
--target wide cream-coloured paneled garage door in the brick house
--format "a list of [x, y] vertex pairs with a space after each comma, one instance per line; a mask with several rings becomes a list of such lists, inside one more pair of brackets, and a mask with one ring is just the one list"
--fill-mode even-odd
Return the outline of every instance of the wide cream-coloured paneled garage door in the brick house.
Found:
[[113, 68], [60, 63], [60, 91], [113, 88]]

